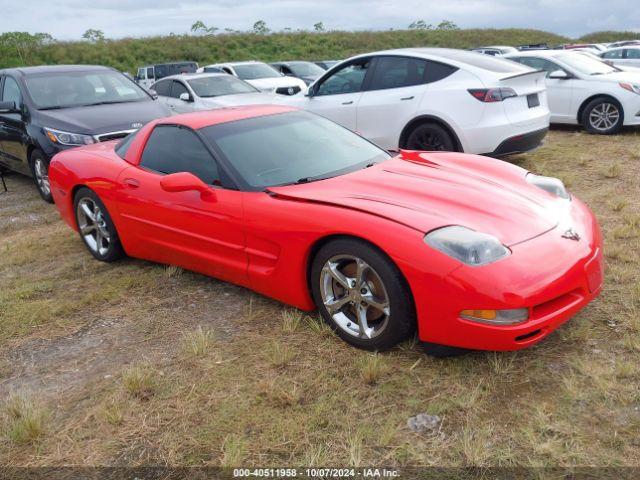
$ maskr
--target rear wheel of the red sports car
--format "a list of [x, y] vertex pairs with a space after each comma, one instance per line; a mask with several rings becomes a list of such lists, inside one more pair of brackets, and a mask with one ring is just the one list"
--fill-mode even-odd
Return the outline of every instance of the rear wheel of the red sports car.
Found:
[[124, 251], [104, 203], [92, 190], [81, 188], [73, 201], [80, 238], [91, 254], [103, 262], [113, 262]]

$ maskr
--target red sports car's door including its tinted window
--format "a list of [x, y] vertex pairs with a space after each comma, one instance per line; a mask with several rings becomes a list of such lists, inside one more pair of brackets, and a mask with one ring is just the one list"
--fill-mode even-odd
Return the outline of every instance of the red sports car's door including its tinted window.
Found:
[[[177, 172], [196, 175], [215, 195], [165, 191], [160, 180]], [[117, 182], [117, 226], [127, 253], [247, 284], [242, 193], [213, 186], [222, 183], [217, 163], [193, 131], [156, 126], [140, 165]]]

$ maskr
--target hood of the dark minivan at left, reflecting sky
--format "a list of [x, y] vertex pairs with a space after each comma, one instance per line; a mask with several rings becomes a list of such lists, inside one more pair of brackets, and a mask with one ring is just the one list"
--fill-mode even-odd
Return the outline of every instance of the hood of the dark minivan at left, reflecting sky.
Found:
[[153, 100], [38, 110], [37, 113], [38, 121], [43, 127], [87, 135], [140, 128], [140, 124], [144, 125], [170, 114], [166, 105]]

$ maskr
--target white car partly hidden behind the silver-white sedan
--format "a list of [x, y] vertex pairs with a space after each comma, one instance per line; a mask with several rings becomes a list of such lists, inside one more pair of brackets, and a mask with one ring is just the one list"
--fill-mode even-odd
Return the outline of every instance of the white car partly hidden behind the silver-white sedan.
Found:
[[275, 68], [262, 62], [215, 63], [199, 68], [198, 73], [211, 69], [220, 69], [229, 75], [238, 77], [262, 92], [295, 95], [307, 88], [303, 80], [295, 77], [286, 77]]

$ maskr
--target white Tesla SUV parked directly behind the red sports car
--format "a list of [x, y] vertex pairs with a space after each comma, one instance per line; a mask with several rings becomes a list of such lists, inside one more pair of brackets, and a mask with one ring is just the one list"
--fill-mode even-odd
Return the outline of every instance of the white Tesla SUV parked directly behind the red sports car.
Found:
[[368, 53], [281, 102], [323, 115], [387, 150], [495, 156], [540, 145], [549, 127], [544, 73], [464, 50]]

